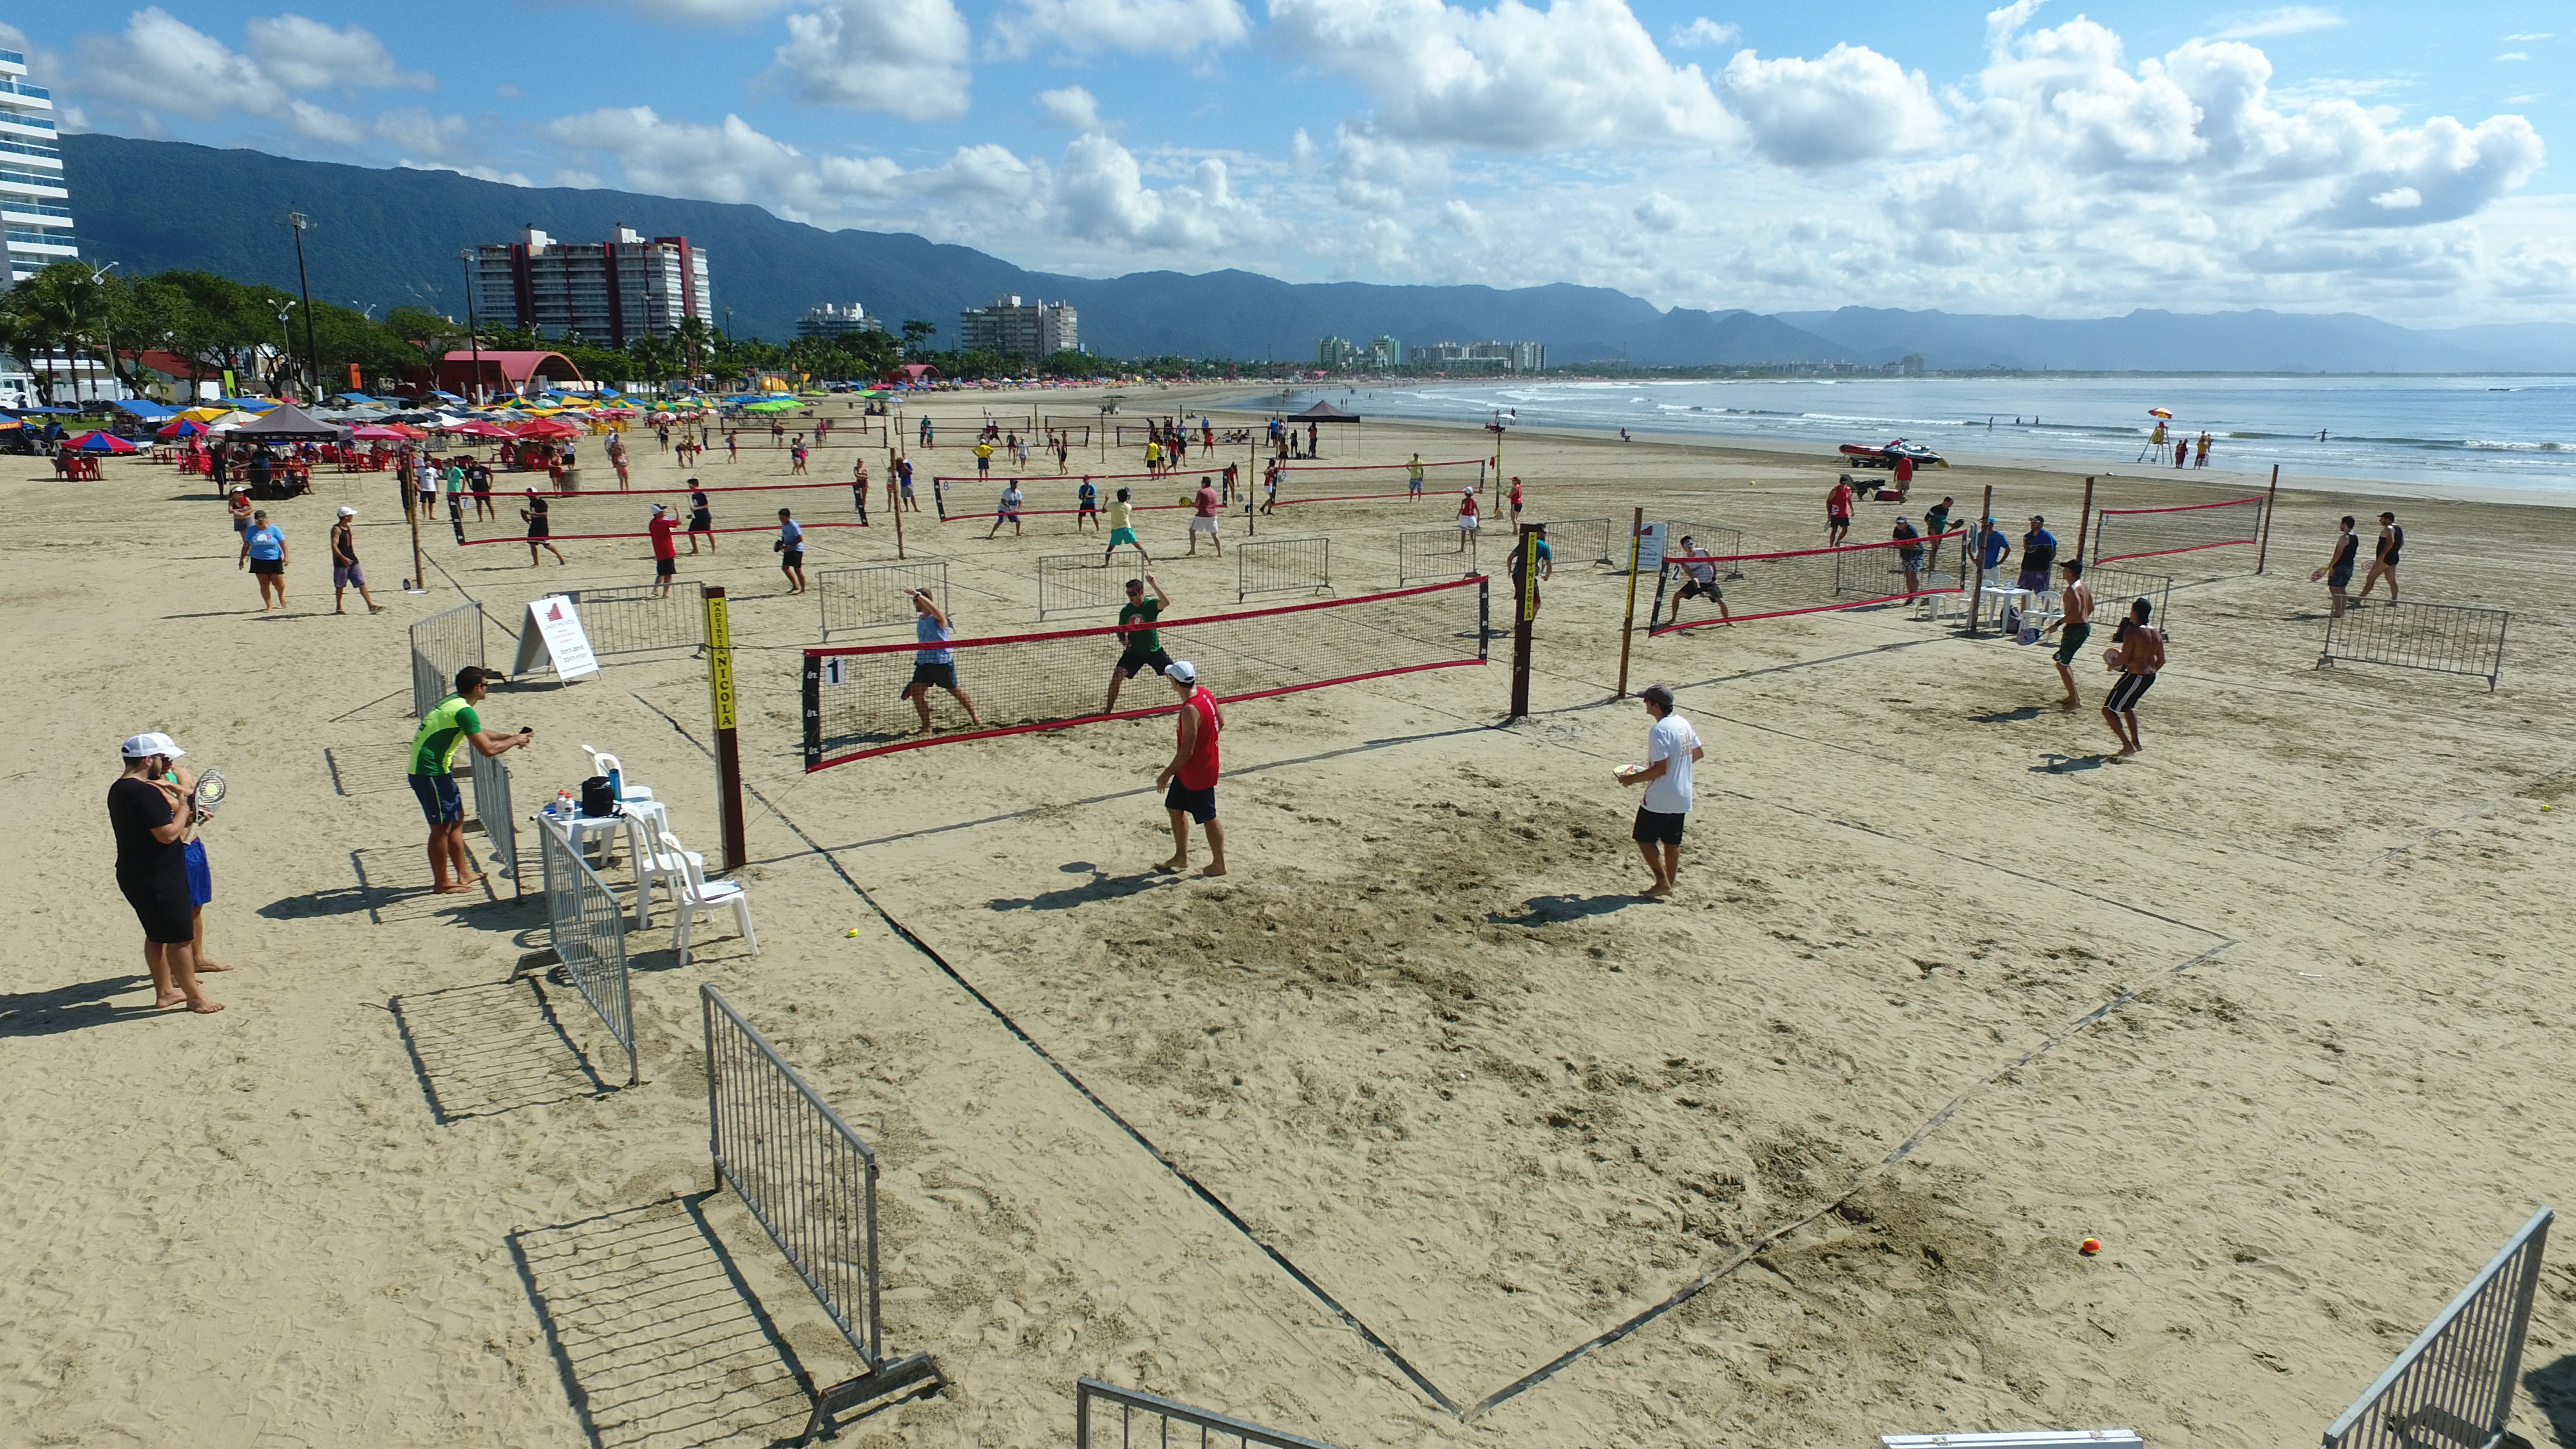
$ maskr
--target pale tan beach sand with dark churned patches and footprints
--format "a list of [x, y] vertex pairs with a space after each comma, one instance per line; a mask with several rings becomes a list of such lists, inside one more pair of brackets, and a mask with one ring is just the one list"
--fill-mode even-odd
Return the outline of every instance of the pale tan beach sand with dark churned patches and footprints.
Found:
[[[1128, 420], [1185, 400], [1131, 389]], [[945, 446], [925, 472], [971, 472], [979, 407], [930, 405]], [[1484, 438], [1370, 423], [1355, 446], [1383, 464]], [[1747, 549], [1821, 544], [1834, 472], [1548, 436], [1512, 436], [1504, 462], [1533, 516], [1646, 505]], [[848, 467], [837, 438], [814, 474]], [[744, 433], [739, 464], [719, 449], [698, 474], [778, 482], [786, 454]], [[1030, 505], [1059, 505], [1051, 469], [1030, 477]], [[636, 485], [677, 482], [641, 436]], [[2048, 513], [2071, 541], [2063, 472], [1932, 469], [1909, 513], [1986, 485], [2014, 534]], [[2123, 477], [2097, 505], [2241, 485]], [[1170, 851], [1167, 719], [806, 776], [817, 606], [781, 596], [762, 536], [726, 536], [683, 554], [683, 583], [734, 596], [762, 951], [714, 918], [680, 969], [667, 908], [634, 931], [647, 1080], [621, 1088], [580, 995], [518, 972], [546, 944], [533, 833], [526, 897], [425, 892], [404, 624], [477, 601], [507, 665], [531, 598], [647, 583], [647, 549], [564, 544], [569, 567], [528, 570], [440, 523], [430, 590], [404, 596], [394, 498], [386, 474], [325, 472], [270, 505], [294, 614], [263, 619], [201, 482], [0, 467], [21, 701], [5, 1441], [793, 1436], [799, 1382], [855, 1359], [711, 1191], [701, 982], [876, 1147], [886, 1341], [951, 1377], [845, 1441], [1064, 1444], [1077, 1374], [1347, 1446], [2110, 1423], [2308, 1441], [2576, 1183], [2553, 1127], [2576, 1060], [2550, 1006], [2576, 908], [2566, 511], [2398, 503], [2409, 598], [2514, 608], [2488, 691], [2318, 670], [2306, 572], [2336, 513], [2380, 503], [2285, 487], [2262, 578], [2241, 549], [2159, 570], [2172, 663], [2125, 763], [2099, 761], [2097, 665], [2087, 709], [2061, 714], [2040, 650], [1909, 608], [1638, 629], [1631, 691], [1674, 683], [1708, 748], [1669, 905], [1633, 897], [1633, 799], [1610, 779], [1646, 717], [1613, 699], [1625, 578], [1607, 567], [1551, 580], [1517, 724], [1499, 647], [1492, 668], [1231, 706], [1234, 869], [1208, 882], [1149, 874]], [[811, 500], [809, 521], [848, 516], [845, 492]], [[327, 614], [337, 503], [363, 511], [384, 616]], [[1260, 529], [1329, 534], [1334, 590], [1358, 596], [1396, 583], [1396, 531], [1453, 505], [1435, 487]], [[641, 503], [623, 513], [641, 526]], [[1855, 536], [1891, 513], [1862, 503]], [[765, 516], [726, 503], [719, 523]], [[907, 544], [951, 559], [963, 634], [1030, 629], [1033, 559], [1084, 547], [1061, 518], [999, 541], [930, 518], [922, 487]], [[876, 521], [817, 529], [809, 567], [891, 559]], [[1180, 552], [1175, 513], [1144, 521]], [[1159, 557], [1175, 614], [1236, 606], [1242, 518], [1226, 536], [1224, 562]], [[538, 730], [510, 755], [523, 810], [580, 784], [587, 743], [714, 853], [703, 660], [611, 655], [572, 686], [500, 686], [484, 714]], [[214, 1018], [147, 1011], [113, 890], [100, 794], [137, 730], [232, 781], [206, 830], [209, 944], [240, 964], [209, 977], [232, 1006]], [[487, 835], [469, 843], [482, 859]], [[2566, 1269], [2524, 1372], [2517, 1431], [2576, 1444]]]

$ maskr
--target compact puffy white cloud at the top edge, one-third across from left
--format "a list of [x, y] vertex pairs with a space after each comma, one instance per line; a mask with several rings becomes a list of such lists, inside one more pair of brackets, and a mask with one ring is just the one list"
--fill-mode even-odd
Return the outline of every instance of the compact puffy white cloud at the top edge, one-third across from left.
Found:
[[971, 103], [966, 46], [953, 0], [840, 0], [788, 15], [788, 44], [765, 80], [783, 80], [806, 106], [953, 121]]

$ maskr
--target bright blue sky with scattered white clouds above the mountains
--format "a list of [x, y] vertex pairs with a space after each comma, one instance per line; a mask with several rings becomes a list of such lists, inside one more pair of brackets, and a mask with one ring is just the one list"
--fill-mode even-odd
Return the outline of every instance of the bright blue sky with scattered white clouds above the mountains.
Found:
[[[2576, 8], [453, 0], [21, 13], [72, 126], [1015, 263], [2576, 320]], [[75, 199], [77, 206], [77, 199]]]

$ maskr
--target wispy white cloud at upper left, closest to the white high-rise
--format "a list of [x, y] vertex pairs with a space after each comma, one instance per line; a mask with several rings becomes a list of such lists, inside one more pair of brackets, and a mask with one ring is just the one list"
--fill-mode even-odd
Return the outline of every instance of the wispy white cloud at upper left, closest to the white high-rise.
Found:
[[[312, 54], [299, 54], [299, 44], [312, 44]], [[258, 116], [330, 147], [366, 142], [368, 124], [304, 101], [299, 90], [433, 85], [428, 75], [397, 67], [384, 44], [358, 26], [335, 31], [301, 15], [278, 15], [250, 23], [250, 46], [258, 57], [149, 5], [126, 18], [121, 36], [80, 36], [70, 70], [88, 95], [126, 108], [144, 131], [157, 131], [157, 116]]]

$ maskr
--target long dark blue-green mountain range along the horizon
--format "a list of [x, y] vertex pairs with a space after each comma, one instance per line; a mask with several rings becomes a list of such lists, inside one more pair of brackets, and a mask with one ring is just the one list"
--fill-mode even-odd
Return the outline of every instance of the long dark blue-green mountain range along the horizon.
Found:
[[350, 307], [464, 315], [461, 248], [538, 227], [595, 240], [616, 227], [706, 248], [716, 307], [737, 335], [788, 338], [817, 302], [860, 302], [889, 325], [922, 317], [953, 345], [961, 307], [1002, 294], [1072, 302], [1105, 356], [1306, 361], [1316, 340], [1396, 335], [1538, 340], [1551, 366], [1893, 364], [2056, 371], [2576, 371], [2576, 325], [2419, 330], [2357, 312], [2154, 312], [2048, 320], [1953, 312], [1659, 309], [1602, 286], [1291, 284], [1249, 271], [1113, 278], [1023, 271], [904, 232], [827, 232], [760, 206], [634, 191], [526, 188], [453, 170], [379, 170], [108, 134], [62, 137], [90, 260], [126, 273], [214, 271], [296, 286], [283, 217], [304, 235], [312, 289]]

